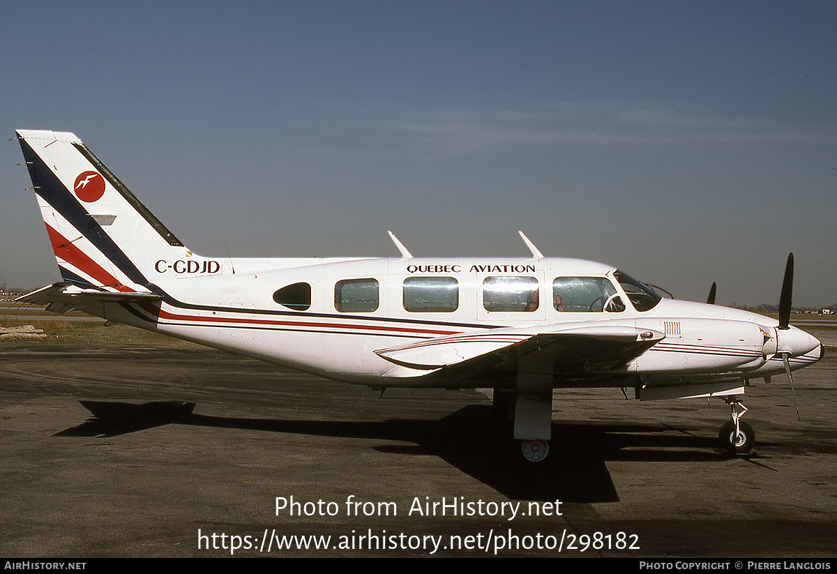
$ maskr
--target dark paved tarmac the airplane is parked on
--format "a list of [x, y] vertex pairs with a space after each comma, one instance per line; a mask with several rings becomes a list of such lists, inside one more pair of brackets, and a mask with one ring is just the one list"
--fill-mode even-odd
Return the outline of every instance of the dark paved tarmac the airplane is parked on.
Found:
[[748, 389], [755, 456], [718, 448], [720, 400], [579, 390], [531, 464], [477, 391], [3, 341], [0, 554], [833, 558], [835, 354], [794, 373], [801, 422], [786, 377]]

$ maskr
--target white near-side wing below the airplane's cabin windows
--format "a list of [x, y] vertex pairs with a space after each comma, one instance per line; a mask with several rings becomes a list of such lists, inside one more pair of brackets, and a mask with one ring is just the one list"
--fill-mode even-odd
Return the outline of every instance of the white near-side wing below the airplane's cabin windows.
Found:
[[489, 378], [518, 372], [524, 356], [526, 372], [578, 377], [619, 369], [664, 338], [633, 325], [585, 322], [478, 331], [375, 352], [397, 365], [385, 377]]

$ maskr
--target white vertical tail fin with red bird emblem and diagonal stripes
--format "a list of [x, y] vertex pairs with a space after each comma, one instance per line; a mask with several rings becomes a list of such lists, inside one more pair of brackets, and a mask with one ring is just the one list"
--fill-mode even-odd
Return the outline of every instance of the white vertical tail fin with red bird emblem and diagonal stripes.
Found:
[[76, 136], [17, 134], [65, 281], [145, 291], [155, 264], [193, 256]]

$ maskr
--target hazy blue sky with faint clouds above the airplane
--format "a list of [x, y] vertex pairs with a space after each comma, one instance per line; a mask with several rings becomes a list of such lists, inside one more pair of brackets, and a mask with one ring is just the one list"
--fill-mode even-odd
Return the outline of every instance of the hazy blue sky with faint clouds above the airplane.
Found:
[[[837, 3], [4, 3], [8, 138], [72, 131], [200, 254], [547, 256], [837, 303]], [[0, 282], [59, 279], [18, 145]]]

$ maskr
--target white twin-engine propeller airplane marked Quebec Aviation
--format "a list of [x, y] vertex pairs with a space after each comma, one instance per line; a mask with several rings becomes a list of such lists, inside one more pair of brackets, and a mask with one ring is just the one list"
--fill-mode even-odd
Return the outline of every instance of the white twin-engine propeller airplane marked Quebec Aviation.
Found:
[[493, 387], [531, 461], [548, 454], [552, 390], [565, 387], [721, 397], [732, 411], [721, 443], [750, 452], [746, 383], [822, 357], [788, 325], [793, 255], [778, 321], [547, 259], [523, 233], [525, 259], [413, 258], [394, 236], [399, 259], [207, 258], [73, 134], [17, 133], [64, 278], [19, 300], [379, 389]]

